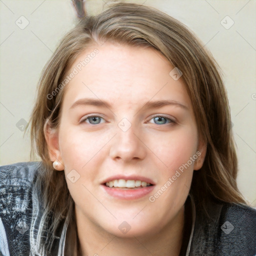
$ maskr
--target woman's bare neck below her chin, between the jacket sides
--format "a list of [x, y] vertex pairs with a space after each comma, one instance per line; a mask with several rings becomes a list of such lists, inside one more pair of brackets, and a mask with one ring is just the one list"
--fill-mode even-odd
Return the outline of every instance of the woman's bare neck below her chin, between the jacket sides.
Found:
[[118, 237], [89, 221], [75, 210], [80, 256], [178, 256], [183, 236], [184, 206], [161, 230], [145, 235]]

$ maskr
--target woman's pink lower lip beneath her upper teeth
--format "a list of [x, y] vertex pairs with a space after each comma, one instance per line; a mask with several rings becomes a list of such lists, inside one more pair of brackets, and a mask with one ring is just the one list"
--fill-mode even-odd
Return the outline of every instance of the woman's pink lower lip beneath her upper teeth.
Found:
[[121, 188], [113, 188], [113, 187], [108, 187], [105, 185], [102, 185], [105, 191], [110, 194], [113, 197], [119, 198], [119, 199], [124, 199], [124, 200], [133, 200], [133, 199], [138, 199], [141, 198], [148, 193], [150, 193], [154, 185], [151, 186], [145, 186], [143, 188], [131, 188], [131, 189], [121, 189]]

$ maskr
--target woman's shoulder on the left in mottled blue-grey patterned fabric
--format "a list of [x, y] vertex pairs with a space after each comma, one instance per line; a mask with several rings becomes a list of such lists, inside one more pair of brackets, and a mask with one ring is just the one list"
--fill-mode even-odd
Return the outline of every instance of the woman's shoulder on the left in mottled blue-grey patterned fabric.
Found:
[[0, 166], [0, 255], [29, 253], [32, 189], [41, 167], [41, 162]]

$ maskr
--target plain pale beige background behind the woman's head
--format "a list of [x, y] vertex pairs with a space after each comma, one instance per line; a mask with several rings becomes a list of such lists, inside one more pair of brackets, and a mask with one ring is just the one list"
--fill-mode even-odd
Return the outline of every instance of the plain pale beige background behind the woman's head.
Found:
[[[87, 0], [86, 9], [97, 13], [105, 2]], [[256, 206], [256, 1], [133, 2], [157, 7], [185, 23], [219, 63], [237, 145], [238, 185], [245, 198]], [[0, 1], [1, 165], [29, 160], [29, 138], [23, 137], [22, 125], [29, 118], [41, 69], [75, 18], [70, 0]]]

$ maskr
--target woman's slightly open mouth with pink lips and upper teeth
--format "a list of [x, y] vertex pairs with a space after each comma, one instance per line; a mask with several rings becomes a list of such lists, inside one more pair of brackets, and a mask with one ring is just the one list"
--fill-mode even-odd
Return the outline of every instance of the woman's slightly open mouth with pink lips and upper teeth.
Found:
[[101, 185], [111, 197], [124, 200], [145, 197], [155, 186], [151, 179], [138, 176], [111, 177]]

